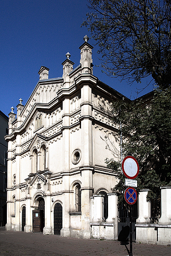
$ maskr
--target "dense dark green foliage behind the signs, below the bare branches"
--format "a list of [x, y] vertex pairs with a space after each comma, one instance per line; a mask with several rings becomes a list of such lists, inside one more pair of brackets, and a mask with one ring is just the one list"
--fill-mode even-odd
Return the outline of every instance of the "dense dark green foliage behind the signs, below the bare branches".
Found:
[[[115, 124], [122, 124], [123, 156], [138, 160], [138, 190], [148, 188], [150, 201], [160, 186], [171, 185], [171, 86], [156, 90], [147, 103], [142, 99], [114, 102], [113, 117]], [[106, 163], [119, 180], [114, 189], [124, 191], [125, 177], [119, 170], [120, 163], [114, 160]]]

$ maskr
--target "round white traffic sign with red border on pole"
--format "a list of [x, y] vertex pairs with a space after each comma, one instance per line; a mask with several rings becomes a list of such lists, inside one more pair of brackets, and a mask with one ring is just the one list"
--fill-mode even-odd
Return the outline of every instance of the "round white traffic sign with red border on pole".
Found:
[[128, 179], [135, 179], [139, 174], [139, 170], [138, 161], [134, 157], [127, 156], [122, 161], [122, 171]]

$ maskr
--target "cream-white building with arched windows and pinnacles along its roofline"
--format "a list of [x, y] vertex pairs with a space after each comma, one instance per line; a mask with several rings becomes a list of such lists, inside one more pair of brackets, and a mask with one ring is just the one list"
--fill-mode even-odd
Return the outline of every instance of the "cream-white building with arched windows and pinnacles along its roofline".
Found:
[[[93, 47], [84, 39], [79, 66], [69, 53], [62, 77], [48, 79], [41, 66], [26, 105], [20, 99], [17, 118], [9, 113], [7, 230], [99, 238], [101, 228], [100, 236], [117, 238], [116, 178], [105, 159], [120, 158], [110, 110], [122, 95], [93, 75]], [[91, 207], [100, 192], [112, 207], [105, 224], [103, 209]]]

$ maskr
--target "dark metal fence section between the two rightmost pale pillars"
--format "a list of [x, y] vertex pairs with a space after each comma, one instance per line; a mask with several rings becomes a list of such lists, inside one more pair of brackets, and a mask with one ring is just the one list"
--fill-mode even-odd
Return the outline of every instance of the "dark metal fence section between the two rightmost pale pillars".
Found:
[[161, 192], [158, 191], [151, 201], [150, 223], [158, 224], [161, 216]]

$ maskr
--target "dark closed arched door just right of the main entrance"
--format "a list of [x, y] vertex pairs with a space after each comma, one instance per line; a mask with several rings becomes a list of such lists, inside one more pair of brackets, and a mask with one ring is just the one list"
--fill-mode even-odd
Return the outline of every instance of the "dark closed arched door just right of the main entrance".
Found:
[[54, 208], [54, 235], [60, 235], [62, 229], [62, 206], [56, 203]]

